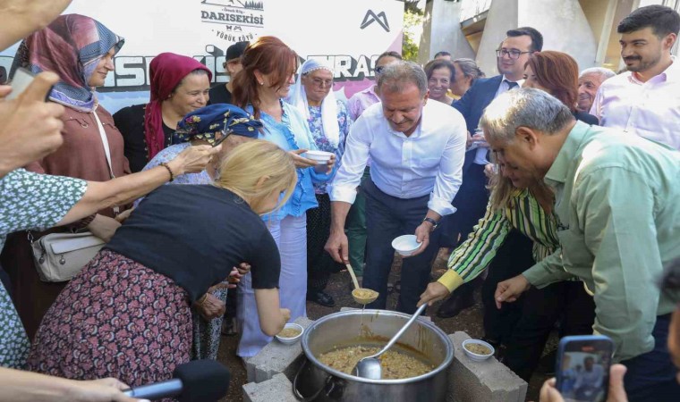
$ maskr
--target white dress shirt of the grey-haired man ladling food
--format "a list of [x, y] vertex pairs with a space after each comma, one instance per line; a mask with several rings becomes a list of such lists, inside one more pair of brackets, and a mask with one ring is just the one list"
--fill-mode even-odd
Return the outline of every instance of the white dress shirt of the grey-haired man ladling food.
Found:
[[352, 204], [369, 157], [370, 179], [384, 193], [398, 198], [429, 194], [428, 207], [453, 214], [451, 201], [462, 182], [466, 142], [465, 120], [453, 107], [429, 100], [421, 122], [406, 137], [392, 130], [382, 104], [371, 105], [354, 122], [336, 178], [331, 201]]

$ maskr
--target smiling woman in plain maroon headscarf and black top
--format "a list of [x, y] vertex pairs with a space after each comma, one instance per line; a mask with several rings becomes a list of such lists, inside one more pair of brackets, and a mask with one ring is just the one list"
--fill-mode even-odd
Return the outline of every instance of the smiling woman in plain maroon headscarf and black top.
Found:
[[139, 172], [172, 144], [174, 128], [184, 115], [208, 105], [212, 72], [191, 57], [161, 53], [149, 64], [149, 79], [149, 103], [123, 107], [114, 114], [132, 172]]

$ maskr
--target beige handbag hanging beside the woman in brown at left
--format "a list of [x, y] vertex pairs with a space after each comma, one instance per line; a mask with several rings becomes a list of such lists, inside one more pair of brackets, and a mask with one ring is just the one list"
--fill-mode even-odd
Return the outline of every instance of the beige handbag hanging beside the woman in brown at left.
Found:
[[89, 231], [50, 233], [37, 241], [29, 235], [29, 239], [38, 276], [45, 282], [71, 281], [106, 244]]

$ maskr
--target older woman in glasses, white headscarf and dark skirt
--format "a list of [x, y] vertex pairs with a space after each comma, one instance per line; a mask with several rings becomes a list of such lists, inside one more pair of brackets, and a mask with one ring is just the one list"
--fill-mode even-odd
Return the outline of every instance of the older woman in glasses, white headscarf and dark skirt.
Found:
[[[344, 138], [352, 119], [344, 104], [333, 93], [333, 67], [325, 60], [310, 59], [302, 64], [289, 103], [307, 119], [311, 136], [321, 151], [343, 156]], [[330, 197], [327, 183], [314, 183], [319, 207], [307, 211], [307, 300], [321, 306], [336, 305], [324, 289], [331, 272], [343, 269], [324, 251], [330, 235]]]

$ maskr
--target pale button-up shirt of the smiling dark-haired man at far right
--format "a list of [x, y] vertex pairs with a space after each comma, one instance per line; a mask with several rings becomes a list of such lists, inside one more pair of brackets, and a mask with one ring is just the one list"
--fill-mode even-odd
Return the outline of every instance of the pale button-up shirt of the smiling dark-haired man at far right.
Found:
[[637, 134], [680, 149], [680, 63], [647, 82], [631, 71], [602, 83], [591, 114], [599, 124]]

